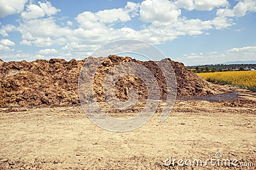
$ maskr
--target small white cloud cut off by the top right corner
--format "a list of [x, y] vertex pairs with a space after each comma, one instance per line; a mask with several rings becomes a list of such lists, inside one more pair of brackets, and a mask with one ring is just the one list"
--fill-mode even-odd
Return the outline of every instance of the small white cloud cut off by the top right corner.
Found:
[[242, 17], [246, 13], [256, 12], [256, 1], [255, 0], [242, 0], [239, 1], [233, 9], [225, 8], [218, 9], [217, 15], [222, 17]]

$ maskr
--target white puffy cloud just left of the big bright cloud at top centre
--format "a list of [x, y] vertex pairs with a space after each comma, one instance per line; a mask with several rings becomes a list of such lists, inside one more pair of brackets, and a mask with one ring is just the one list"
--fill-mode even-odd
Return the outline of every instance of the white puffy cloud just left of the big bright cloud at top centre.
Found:
[[[115, 24], [128, 22], [138, 15], [139, 4], [128, 2], [124, 8], [97, 11], [84, 11], [75, 18], [79, 27], [67, 36], [68, 41], [78, 45], [101, 45], [102, 42], [120, 38], [139, 38], [139, 31], [129, 27], [116, 29]], [[141, 37], [141, 36], [140, 36]], [[70, 46], [70, 45], [68, 45]]]

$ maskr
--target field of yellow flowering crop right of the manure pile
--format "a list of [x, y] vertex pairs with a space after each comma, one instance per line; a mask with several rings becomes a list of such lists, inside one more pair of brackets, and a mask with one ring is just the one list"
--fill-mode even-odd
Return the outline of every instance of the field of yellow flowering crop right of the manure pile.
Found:
[[198, 76], [212, 83], [236, 85], [256, 92], [256, 71], [198, 73]]

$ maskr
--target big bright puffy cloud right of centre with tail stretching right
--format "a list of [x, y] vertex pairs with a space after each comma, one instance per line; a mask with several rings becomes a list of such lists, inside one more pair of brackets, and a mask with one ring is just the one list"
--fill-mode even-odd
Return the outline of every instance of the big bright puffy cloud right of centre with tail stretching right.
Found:
[[[227, 1], [168, 1], [168, 0], [146, 0], [141, 3], [140, 20], [151, 22], [151, 25], [145, 27], [144, 30], [138, 33], [145, 33], [143, 36], [148, 38], [145, 41], [151, 43], [163, 43], [171, 41], [178, 36], [190, 35], [196, 36], [199, 34], [207, 34], [209, 29], [225, 29], [233, 24], [232, 19], [225, 17], [216, 17], [212, 20], [187, 19], [180, 16], [181, 8], [179, 3], [191, 4], [192, 9], [195, 9], [195, 4], [205, 4], [205, 6], [225, 6]], [[178, 8], [179, 7], [179, 8]], [[159, 10], [161, 9], [161, 10]], [[205, 10], [209, 10], [205, 8]], [[141, 37], [140, 35], [139, 37]]]

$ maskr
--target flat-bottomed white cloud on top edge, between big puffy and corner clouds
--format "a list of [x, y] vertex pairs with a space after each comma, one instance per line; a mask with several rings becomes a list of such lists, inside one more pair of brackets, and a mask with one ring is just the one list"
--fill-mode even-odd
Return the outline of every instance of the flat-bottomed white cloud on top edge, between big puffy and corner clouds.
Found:
[[213, 8], [227, 7], [227, 0], [178, 0], [175, 2], [179, 8], [187, 10], [209, 11]]

